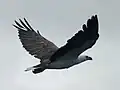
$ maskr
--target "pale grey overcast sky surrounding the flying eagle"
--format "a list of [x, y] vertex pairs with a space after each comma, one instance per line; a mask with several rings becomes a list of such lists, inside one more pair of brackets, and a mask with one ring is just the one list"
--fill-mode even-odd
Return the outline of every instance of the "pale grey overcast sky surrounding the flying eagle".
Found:
[[[119, 0], [1, 0], [0, 90], [120, 90]], [[24, 70], [39, 63], [22, 48], [14, 20], [26, 17], [34, 29], [62, 46], [94, 14], [100, 38], [86, 61], [68, 70]]]

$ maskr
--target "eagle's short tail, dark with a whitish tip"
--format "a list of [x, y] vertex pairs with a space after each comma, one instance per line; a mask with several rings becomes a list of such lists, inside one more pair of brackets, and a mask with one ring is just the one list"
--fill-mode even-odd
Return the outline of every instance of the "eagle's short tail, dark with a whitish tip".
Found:
[[25, 71], [30, 71], [32, 70], [32, 72], [34, 74], [37, 74], [37, 73], [40, 73], [40, 72], [43, 72], [46, 68], [44, 66], [42, 66], [41, 64], [38, 64], [36, 66], [33, 66], [33, 67], [29, 67], [27, 68]]

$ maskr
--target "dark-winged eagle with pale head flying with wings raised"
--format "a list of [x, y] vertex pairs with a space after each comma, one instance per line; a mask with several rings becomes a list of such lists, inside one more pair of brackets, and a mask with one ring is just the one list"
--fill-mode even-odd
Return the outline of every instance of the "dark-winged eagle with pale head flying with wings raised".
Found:
[[84, 61], [92, 60], [92, 57], [81, 54], [92, 48], [99, 38], [97, 15], [92, 15], [87, 23], [82, 25], [82, 30], [79, 30], [60, 48], [41, 35], [38, 30], [35, 31], [25, 18], [23, 20], [19, 19], [20, 23], [15, 20], [13, 26], [18, 30], [23, 47], [29, 54], [40, 60], [39, 64], [25, 71], [38, 74], [46, 69], [68, 69]]

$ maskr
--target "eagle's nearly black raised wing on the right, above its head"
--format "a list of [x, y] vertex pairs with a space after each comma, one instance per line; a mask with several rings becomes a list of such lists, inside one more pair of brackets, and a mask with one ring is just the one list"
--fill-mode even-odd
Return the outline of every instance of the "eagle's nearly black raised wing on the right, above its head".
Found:
[[87, 25], [83, 24], [83, 30], [78, 31], [69, 39], [63, 47], [59, 48], [50, 58], [51, 61], [61, 56], [78, 57], [79, 54], [91, 48], [99, 38], [97, 15], [88, 19]]

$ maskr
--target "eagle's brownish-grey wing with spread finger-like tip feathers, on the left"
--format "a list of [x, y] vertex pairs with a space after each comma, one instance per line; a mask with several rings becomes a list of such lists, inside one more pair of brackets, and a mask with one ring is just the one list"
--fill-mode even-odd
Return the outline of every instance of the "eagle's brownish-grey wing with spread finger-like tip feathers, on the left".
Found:
[[21, 19], [19, 20], [21, 24], [15, 21], [16, 25], [13, 26], [18, 29], [18, 36], [23, 47], [34, 57], [41, 59], [41, 61], [49, 59], [58, 47], [44, 38], [39, 31], [35, 32], [25, 18], [26, 24]]

